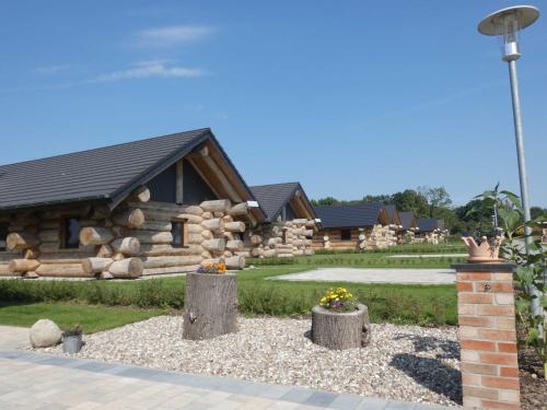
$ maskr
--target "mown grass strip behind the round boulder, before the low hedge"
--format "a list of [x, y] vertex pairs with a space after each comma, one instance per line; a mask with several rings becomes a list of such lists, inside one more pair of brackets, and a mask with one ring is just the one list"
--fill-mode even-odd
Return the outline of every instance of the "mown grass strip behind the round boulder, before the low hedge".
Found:
[[1, 303], [0, 325], [31, 327], [36, 320], [48, 318], [54, 320], [61, 329], [81, 325], [85, 333], [94, 333], [95, 331], [113, 329], [165, 313], [164, 309], [135, 307], [60, 303]]

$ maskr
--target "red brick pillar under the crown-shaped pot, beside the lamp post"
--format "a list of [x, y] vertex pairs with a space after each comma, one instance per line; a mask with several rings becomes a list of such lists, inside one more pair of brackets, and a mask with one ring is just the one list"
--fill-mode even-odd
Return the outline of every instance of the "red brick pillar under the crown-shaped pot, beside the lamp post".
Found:
[[520, 409], [514, 263], [455, 263], [464, 407]]

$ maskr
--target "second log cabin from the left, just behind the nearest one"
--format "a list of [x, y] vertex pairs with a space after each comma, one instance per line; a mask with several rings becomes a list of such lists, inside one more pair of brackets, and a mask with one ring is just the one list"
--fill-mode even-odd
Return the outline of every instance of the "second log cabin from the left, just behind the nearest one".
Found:
[[259, 185], [251, 187], [251, 191], [266, 219], [248, 231], [245, 238], [246, 253], [257, 258], [313, 255], [313, 236], [321, 226], [321, 221], [317, 220], [302, 185]]

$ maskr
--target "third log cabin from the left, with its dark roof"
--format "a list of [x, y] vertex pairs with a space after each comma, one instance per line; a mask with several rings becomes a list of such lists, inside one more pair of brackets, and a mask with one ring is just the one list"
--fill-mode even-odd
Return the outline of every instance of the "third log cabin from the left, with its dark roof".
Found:
[[[315, 207], [323, 229], [315, 249], [382, 249], [397, 244], [397, 230], [382, 203]], [[398, 226], [398, 225], [397, 225]]]

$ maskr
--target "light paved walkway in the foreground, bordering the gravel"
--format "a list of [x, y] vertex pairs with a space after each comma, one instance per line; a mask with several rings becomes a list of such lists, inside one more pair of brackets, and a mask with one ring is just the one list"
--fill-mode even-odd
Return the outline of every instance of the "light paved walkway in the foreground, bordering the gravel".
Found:
[[0, 350], [0, 409], [444, 409], [293, 386]]

